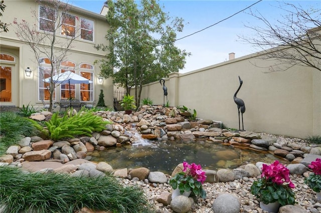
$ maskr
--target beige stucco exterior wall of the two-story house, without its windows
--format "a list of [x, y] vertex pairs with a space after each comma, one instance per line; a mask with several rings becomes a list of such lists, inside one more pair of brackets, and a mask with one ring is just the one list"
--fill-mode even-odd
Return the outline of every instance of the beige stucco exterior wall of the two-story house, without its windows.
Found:
[[[39, 5], [34, 0], [15, 0], [6, 1], [7, 7], [3, 12], [4, 16], [2, 21], [12, 23], [9, 25], [9, 32], [2, 32], [0, 35], [0, 51], [1, 53], [11, 54], [16, 57], [16, 62], [13, 65], [12, 76], [12, 101], [0, 102], [1, 105], [14, 105], [22, 107], [28, 103], [34, 106], [43, 106], [39, 99], [39, 79], [38, 79], [38, 62], [31, 47], [18, 39], [15, 33], [15, 27], [13, 24], [14, 18], [17, 18], [18, 22], [22, 19], [26, 20], [30, 24], [38, 24], [37, 20], [32, 16], [31, 11], [35, 10], [39, 14]], [[94, 65], [95, 60], [104, 58], [105, 52], [96, 50], [94, 44], [105, 43], [106, 39], [104, 35], [109, 29], [109, 24], [106, 21], [104, 15], [93, 13], [88, 10], [84, 10], [78, 7], [72, 7], [69, 13], [76, 16], [88, 18], [94, 21], [94, 41], [75, 39], [72, 42], [72, 48], [66, 56], [66, 60], [76, 63], [75, 71], [80, 74], [79, 64], [89, 63], [94, 66], [93, 69], [93, 99], [98, 101], [100, 89], [104, 91], [104, 98], [106, 105], [112, 106], [113, 104], [113, 84], [111, 79], [104, 79], [102, 83], [98, 82], [98, 76], [100, 73], [99, 65]], [[62, 39], [58, 35], [58, 39]], [[65, 39], [65, 38], [63, 38]], [[43, 55], [41, 55], [43, 56]], [[5, 64], [2, 61], [2, 65]], [[10, 64], [9, 64], [10, 65]], [[25, 75], [25, 69], [30, 67], [32, 75], [27, 77]], [[90, 70], [88, 70], [90, 71]], [[80, 98], [80, 85], [76, 84], [76, 98]], [[60, 100], [60, 86], [56, 88], [56, 101]]]

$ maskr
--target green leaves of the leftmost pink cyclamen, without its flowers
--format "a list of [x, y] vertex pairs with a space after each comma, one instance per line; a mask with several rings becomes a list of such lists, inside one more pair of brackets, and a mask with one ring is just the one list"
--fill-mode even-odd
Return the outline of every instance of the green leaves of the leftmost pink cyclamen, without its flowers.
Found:
[[197, 181], [191, 175], [186, 175], [185, 172], [179, 172], [170, 179], [170, 184], [173, 189], [177, 187], [180, 189], [181, 194], [184, 191], [192, 191], [196, 196], [206, 197], [206, 191], [202, 187], [202, 183]]

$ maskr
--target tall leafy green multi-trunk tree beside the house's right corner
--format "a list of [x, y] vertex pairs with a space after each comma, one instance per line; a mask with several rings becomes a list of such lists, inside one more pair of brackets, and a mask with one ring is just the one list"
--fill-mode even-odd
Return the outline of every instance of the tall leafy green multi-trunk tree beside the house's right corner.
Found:
[[107, 45], [95, 47], [107, 51], [100, 63], [103, 77], [126, 88], [135, 87], [136, 103], [140, 103], [142, 85], [166, 77], [184, 68], [190, 53], [176, 47], [176, 31], [184, 28], [182, 18], [171, 18], [156, 0], [108, 1], [106, 15], [110, 30]]

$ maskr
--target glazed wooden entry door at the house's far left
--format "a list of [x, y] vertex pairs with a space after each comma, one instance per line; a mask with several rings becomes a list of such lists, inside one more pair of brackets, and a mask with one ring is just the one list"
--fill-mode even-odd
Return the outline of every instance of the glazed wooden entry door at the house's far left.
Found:
[[0, 102], [2, 105], [16, 105], [16, 88], [13, 86], [15, 66], [2, 64], [0, 69]]

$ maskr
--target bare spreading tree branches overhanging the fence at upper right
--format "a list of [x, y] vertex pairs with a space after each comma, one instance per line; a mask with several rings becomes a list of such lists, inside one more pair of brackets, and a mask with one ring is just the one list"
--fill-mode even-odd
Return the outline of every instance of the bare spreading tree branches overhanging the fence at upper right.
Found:
[[276, 60], [275, 65], [269, 66], [271, 71], [286, 70], [294, 65], [321, 71], [321, 8], [303, 8], [291, 3], [281, 4], [279, 8], [284, 10], [284, 15], [276, 24], [258, 11], [251, 11], [250, 14], [262, 21], [264, 27], [246, 25], [255, 35], [240, 37], [263, 50], [261, 58]]

